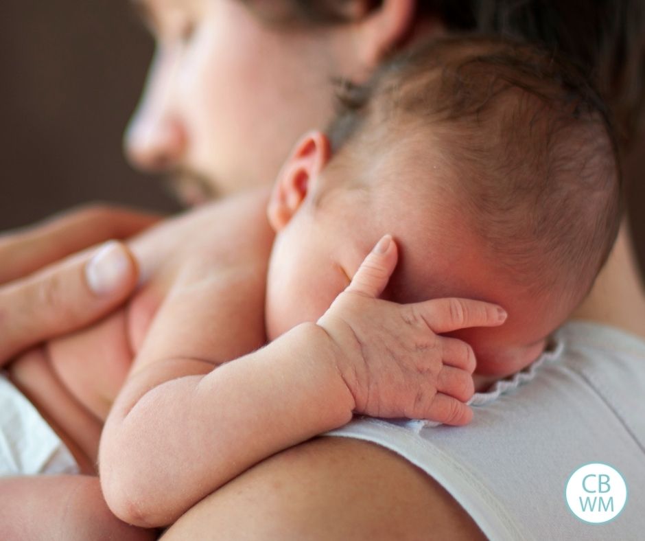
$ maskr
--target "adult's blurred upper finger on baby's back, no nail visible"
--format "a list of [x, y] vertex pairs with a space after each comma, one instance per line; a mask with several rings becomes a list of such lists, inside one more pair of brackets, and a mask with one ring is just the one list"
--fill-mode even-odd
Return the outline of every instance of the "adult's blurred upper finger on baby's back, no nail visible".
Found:
[[91, 205], [73, 209], [32, 227], [0, 235], [0, 284], [25, 277], [67, 255], [108, 239], [125, 239], [160, 216]]

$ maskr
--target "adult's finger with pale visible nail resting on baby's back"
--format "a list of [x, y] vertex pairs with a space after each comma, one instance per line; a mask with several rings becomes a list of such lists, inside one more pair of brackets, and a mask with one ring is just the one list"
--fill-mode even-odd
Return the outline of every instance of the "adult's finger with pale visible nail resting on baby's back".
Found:
[[47, 338], [77, 330], [119, 305], [137, 284], [124, 244], [106, 242], [0, 287], [0, 365]]

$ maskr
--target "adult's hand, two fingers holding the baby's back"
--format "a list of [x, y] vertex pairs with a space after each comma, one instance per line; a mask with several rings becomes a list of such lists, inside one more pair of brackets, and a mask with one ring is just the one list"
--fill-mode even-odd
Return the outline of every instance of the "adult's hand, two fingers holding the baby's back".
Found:
[[136, 286], [138, 268], [114, 239], [128, 238], [158, 219], [95, 205], [0, 235], [0, 366], [119, 306]]

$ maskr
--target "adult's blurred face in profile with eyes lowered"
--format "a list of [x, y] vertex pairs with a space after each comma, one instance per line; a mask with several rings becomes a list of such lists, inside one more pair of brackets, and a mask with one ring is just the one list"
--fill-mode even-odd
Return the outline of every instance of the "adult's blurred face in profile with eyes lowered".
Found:
[[239, 0], [136, 3], [156, 54], [126, 151], [171, 172], [188, 204], [272, 182], [297, 137], [327, 124], [332, 79], [360, 69], [350, 24], [271, 25]]

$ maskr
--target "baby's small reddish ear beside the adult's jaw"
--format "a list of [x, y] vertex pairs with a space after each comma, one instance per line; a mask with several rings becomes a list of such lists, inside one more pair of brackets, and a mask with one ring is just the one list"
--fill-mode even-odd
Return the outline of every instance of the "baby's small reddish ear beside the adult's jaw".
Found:
[[304, 135], [292, 150], [275, 181], [267, 215], [274, 231], [280, 231], [305, 200], [311, 183], [331, 157], [327, 135], [311, 131]]

